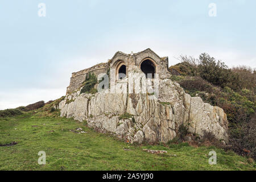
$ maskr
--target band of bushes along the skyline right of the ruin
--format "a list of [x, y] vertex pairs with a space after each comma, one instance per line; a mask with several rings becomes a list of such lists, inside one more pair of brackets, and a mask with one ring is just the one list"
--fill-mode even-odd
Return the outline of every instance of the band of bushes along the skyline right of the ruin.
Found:
[[[210, 83], [221, 86], [229, 86], [235, 91], [247, 88], [255, 90], [256, 71], [245, 66], [228, 69], [221, 60], [216, 61], [207, 53], [201, 53], [199, 59], [188, 56], [180, 56], [181, 63], [171, 66], [181, 75], [200, 76]], [[254, 91], [253, 91], [254, 93]]]

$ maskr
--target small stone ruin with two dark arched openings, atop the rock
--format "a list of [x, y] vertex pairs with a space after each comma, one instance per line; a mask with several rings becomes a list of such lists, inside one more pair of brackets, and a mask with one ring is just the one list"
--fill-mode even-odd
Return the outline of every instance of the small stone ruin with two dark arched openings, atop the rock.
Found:
[[118, 80], [118, 73], [128, 75], [131, 71], [152, 73], [153, 77], [154, 73], [158, 73], [161, 79], [170, 77], [168, 57], [159, 57], [149, 48], [145, 51], [138, 53], [131, 52], [130, 54], [118, 51], [112, 59], [108, 60], [108, 63], [100, 63], [91, 68], [72, 73], [67, 94], [81, 88], [86, 75], [89, 73], [94, 73], [98, 76], [102, 73], [107, 73], [108, 70], [110, 70], [110, 79], [113, 78], [115, 80]]

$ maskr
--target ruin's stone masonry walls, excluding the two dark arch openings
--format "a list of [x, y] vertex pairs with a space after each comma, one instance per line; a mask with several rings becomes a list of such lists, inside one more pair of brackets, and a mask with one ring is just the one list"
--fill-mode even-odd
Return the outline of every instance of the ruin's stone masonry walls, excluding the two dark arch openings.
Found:
[[141, 72], [140, 64], [143, 60], [150, 59], [156, 65], [156, 73], [159, 74], [159, 78], [168, 78], [170, 72], [168, 71], [168, 57], [159, 57], [151, 49], [146, 49], [138, 53], [126, 54], [121, 51], [115, 53], [108, 63], [101, 63], [94, 65], [91, 68], [83, 69], [82, 71], [72, 73], [70, 78], [70, 84], [67, 88], [67, 94], [75, 92], [82, 86], [86, 74], [89, 72], [94, 73], [96, 76], [100, 73], [106, 73], [110, 69], [110, 80], [112, 83], [116, 81], [117, 78], [117, 65], [122, 62], [126, 65], [127, 75], [129, 72]]

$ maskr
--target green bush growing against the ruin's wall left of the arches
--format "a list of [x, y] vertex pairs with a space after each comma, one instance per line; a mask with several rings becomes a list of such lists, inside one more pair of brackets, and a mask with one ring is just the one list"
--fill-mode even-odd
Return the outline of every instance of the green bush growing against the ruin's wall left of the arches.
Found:
[[86, 75], [84, 86], [82, 87], [80, 93], [97, 93], [97, 89], [94, 88], [97, 82], [97, 77], [94, 75], [94, 73], [89, 73]]

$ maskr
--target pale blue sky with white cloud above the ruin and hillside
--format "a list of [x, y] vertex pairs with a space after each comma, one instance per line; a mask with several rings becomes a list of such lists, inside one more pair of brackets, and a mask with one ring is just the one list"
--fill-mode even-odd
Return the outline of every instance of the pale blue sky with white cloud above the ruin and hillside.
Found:
[[[38, 16], [39, 3], [46, 17]], [[216, 3], [217, 16], [208, 15]], [[0, 2], [0, 109], [65, 95], [72, 72], [116, 51], [207, 52], [256, 67], [256, 1], [16, 0]]]

